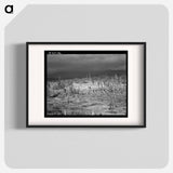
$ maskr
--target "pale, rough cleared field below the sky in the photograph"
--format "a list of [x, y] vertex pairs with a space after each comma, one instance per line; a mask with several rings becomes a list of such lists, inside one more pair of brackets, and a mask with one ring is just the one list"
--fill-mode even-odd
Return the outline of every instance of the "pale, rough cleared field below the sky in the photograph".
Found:
[[46, 82], [46, 116], [127, 115], [127, 77], [101, 76]]

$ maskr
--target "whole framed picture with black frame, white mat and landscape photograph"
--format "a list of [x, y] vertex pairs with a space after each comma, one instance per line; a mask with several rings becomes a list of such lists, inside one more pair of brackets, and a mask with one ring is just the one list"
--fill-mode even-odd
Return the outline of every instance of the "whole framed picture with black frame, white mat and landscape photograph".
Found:
[[146, 127], [145, 42], [27, 42], [27, 127]]

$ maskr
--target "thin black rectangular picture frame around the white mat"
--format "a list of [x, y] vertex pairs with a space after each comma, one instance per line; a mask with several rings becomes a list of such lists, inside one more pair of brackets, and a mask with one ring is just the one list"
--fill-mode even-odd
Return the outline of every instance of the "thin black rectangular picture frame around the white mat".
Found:
[[[29, 124], [28, 123], [28, 111], [29, 111], [28, 109], [28, 94], [29, 94], [29, 91], [28, 91], [28, 84], [29, 84], [29, 81], [28, 81], [29, 79], [28, 48], [30, 44], [69, 44], [69, 45], [70, 44], [110, 44], [110, 45], [111, 44], [142, 44], [144, 45], [144, 101], [143, 101], [144, 102], [144, 121], [143, 121], [144, 123], [142, 125], [31, 125]], [[127, 83], [127, 89], [128, 89], [128, 83]], [[127, 118], [127, 116], [123, 116], [123, 117], [120, 116], [120, 117]], [[26, 42], [26, 128], [146, 128], [146, 42]]]

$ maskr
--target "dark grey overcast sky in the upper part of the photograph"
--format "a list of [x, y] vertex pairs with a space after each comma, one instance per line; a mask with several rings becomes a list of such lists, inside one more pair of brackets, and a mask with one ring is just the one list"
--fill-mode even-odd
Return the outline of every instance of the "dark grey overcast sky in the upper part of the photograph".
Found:
[[48, 54], [48, 77], [125, 70], [125, 54]]

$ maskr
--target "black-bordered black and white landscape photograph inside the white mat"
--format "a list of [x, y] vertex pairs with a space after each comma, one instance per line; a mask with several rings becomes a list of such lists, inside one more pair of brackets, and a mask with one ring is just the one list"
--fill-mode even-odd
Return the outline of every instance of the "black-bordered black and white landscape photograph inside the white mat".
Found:
[[128, 117], [128, 51], [44, 51], [45, 117]]

